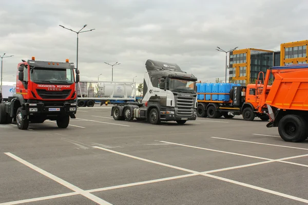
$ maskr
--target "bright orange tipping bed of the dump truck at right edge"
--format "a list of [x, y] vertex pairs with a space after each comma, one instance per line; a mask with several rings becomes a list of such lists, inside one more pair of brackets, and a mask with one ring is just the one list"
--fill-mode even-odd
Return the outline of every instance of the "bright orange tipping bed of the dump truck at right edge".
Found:
[[308, 111], [308, 65], [273, 67], [275, 77], [265, 104], [279, 109]]

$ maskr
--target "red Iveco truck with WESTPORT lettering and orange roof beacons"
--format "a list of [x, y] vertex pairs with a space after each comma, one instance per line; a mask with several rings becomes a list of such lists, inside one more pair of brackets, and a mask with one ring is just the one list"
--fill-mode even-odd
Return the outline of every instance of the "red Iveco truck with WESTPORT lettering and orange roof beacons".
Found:
[[[79, 70], [64, 62], [22, 60], [17, 66], [16, 94], [0, 104], [0, 124], [16, 121], [18, 129], [28, 129], [29, 122], [56, 120], [59, 128], [67, 128], [75, 118], [75, 83]], [[76, 77], [74, 76], [74, 69]]]

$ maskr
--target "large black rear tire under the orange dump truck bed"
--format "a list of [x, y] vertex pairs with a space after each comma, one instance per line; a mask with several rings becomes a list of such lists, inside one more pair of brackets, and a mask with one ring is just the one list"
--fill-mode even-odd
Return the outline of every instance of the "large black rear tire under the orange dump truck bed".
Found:
[[285, 115], [280, 119], [278, 132], [284, 141], [302, 142], [308, 134], [306, 120], [298, 115]]

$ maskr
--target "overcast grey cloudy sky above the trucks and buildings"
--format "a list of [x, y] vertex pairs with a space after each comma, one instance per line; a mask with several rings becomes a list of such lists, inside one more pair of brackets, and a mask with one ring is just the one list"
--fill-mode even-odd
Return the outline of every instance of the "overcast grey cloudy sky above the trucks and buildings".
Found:
[[81, 80], [142, 83], [147, 59], [177, 63], [201, 81], [224, 79], [224, 50], [280, 50], [307, 38], [308, 1], [297, 0], [1, 0], [3, 80], [15, 81], [21, 59], [76, 62]]

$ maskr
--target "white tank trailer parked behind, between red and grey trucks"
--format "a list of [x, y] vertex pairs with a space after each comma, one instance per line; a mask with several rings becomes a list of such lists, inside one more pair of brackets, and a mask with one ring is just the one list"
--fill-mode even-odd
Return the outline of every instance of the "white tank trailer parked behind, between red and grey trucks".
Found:
[[117, 104], [136, 101], [136, 83], [121, 81], [80, 81], [78, 106], [93, 107], [95, 103]]

